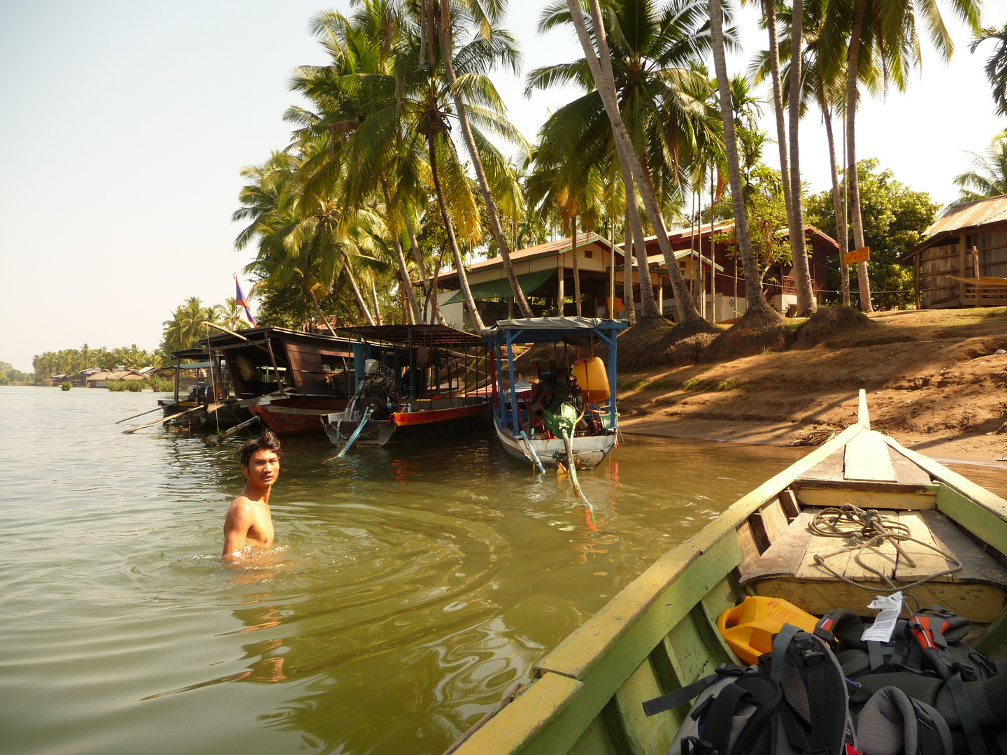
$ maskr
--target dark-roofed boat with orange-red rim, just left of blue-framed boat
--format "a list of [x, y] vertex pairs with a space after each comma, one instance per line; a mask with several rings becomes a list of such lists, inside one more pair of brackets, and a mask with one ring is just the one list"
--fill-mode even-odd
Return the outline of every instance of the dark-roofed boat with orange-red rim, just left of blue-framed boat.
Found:
[[322, 420], [332, 443], [383, 446], [485, 423], [489, 362], [479, 336], [430, 324], [343, 330], [362, 340], [353, 342], [353, 396]]

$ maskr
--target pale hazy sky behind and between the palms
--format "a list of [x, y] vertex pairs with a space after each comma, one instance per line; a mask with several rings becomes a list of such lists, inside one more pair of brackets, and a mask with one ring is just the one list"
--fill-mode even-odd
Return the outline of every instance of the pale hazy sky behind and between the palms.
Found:
[[[512, 0], [509, 27], [525, 67], [573, 59], [572, 31], [539, 36], [544, 3]], [[941, 203], [1007, 126], [993, 117], [969, 34], [942, 4], [957, 43], [951, 65], [927, 47], [905, 95], [868, 100], [858, 115], [858, 156], [878, 157], [897, 179]], [[1002, 27], [1007, 4], [987, 0], [984, 25]], [[308, 33], [321, 8], [346, 0], [54, 2], [0, 4], [0, 360], [25, 371], [47, 350], [136, 343], [153, 349], [162, 322], [189, 296], [234, 295], [232, 274], [251, 252], [234, 250], [231, 222], [243, 165], [284, 147], [291, 70], [323, 63]], [[741, 13], [745, 53], [765, 45], [755, 11]], [[522, 80], [495, 77], [510, 117], [533, 141], [571, 92], [531, 100]], [[763, 128], [775, 133], [766, 109]], [[825, 132], [803, 122], [804, 179], [829, 186]], [[775, 145], [766, 159], [775, 164]], [[247, 282], [246, 290], [248, 289]]]

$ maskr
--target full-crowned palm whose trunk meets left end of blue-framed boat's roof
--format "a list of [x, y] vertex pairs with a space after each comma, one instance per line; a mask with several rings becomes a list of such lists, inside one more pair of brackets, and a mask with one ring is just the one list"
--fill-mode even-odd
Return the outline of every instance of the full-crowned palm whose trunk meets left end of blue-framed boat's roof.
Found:
[[[452, 88], [446, 82], [443, 60], [424, 36], [424, 19], [428, 16], [409, 15], [415, 10], [407, 6], [400, 16], [398, 35], [392, 42], [394, 64], [390, 71], [367, 77], [332, 77], [329, 88], [333, 99], [349, 95], [355, 98], [352, 119], [340, 122], [345, 142], [337, 152], [343, 164], [353, 166], [346, 182], [351, 197], [367, 195], [385, 175], [386, 168], [387, 185], [395, 186], [397, 191], [403, 184], [429, 181], [433, 185], [459, 273], [462, 296], [474, 325], [481, 328], [456, 231], [474, 242], [481, 238], [482, 230], [478, 207], [450, 132], [452, 121], [458, 118], [454, 103], [457, 96], [466, 103], [469, 130], [479, 150], [486, 180], [497, 195], [517, 190], [509, 163], [486, 133], [518, 144], [523, 144], [523, 139], [503, 117], [502, 102], [483, 72], [497, 61], [513, 57], [514, 50], [502, 32], [491, 45], [481, 38], [461, 45], [452, 60], [454, 70], [460, 74]], [[432, 28], [426, 30], [433, 32]], [[453, 33], [452, 38], [455, 36]], [[397, 205], [394, 195], [391, 201], [393, 206]], [[415, 201], [415, 196], [411, 201]]]

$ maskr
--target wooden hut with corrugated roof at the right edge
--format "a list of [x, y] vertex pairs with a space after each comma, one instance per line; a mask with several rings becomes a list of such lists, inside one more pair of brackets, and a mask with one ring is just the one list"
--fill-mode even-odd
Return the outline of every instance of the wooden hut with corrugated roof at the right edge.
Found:
[[1007, 194], [956, 204], [923, 236], [899, 260], [912, 264], [917, 309], [1007, 305]]

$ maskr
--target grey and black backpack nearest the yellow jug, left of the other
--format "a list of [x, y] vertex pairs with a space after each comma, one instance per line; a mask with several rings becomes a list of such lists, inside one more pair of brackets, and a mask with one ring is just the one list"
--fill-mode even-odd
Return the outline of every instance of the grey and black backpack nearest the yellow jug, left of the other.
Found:
[[758, 665], [721, 665], [643, 711], [653, 716], [693, 698], [669, 755], [842, 755], [852, 736], [839, 661], [822, 638], [790, 624]]

